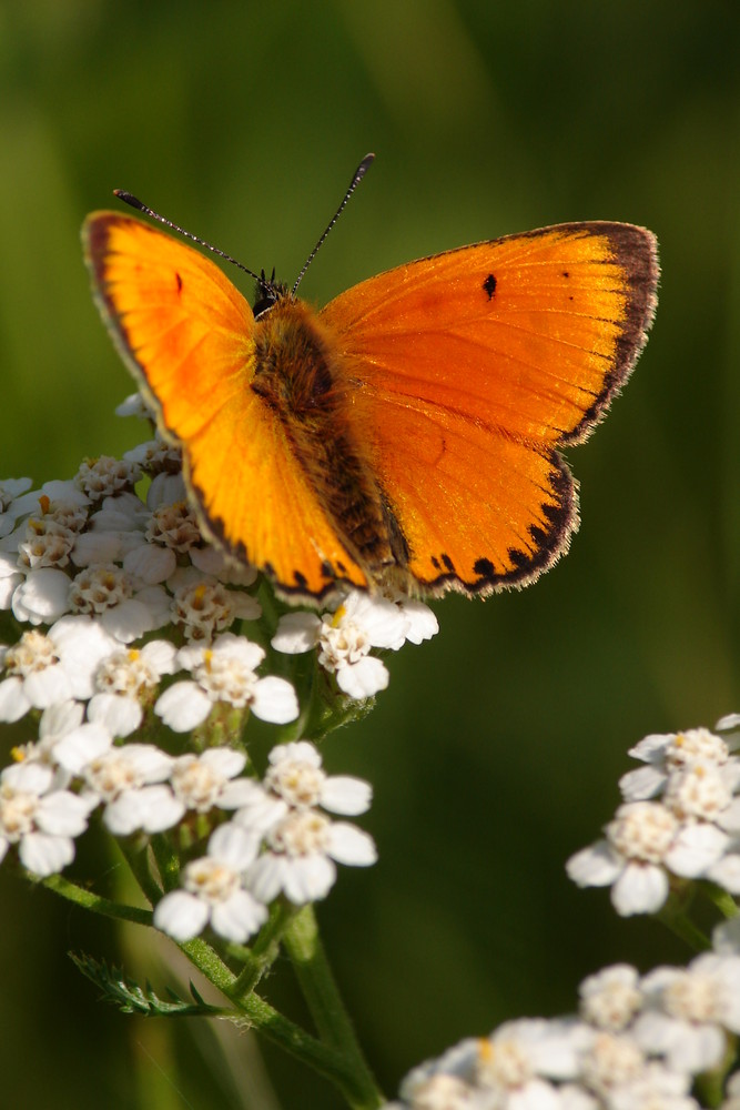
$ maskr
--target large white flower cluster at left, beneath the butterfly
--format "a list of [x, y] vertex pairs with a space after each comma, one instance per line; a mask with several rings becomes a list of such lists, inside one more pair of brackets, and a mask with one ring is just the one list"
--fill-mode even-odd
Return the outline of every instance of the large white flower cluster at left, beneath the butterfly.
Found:
[[[138, 398], [119, 412], [148, 415]], [[0, 859], [12, 849], [44, 878], [72, 861], [95, 810], [121, 837], [211, 813], [206, 854], [156, 908], [158, 926], [179, 940], [206, 924], [244, 940], [276, 897], [322, 898], [337, 862], [374, 862], [372, 839], [328, 816], [364, 813], [369, 787], [327, 776], [310, 743], [274, 748], [264, 780], [242, 753], [207, 741], [179, 758], [135, 743], [156, 718], [175, 733], [212, 725], [219, 735], [246, 709], [273, 724], [298, 716], [292, 685], [260, 675], [265, 652], [233, 630], [261, 616], [249, 592], [256, 575], [202, 537], [180, 453], [154, 438], [122, 460], [87, 461], [72, 481], [30, 486], [0, 484], [0, 608], [26, 626], [0, 645], [0, 723], [30, 726], [0, 771]], [[316, 649], [339, 689], [364, 698], [387, 685], [372, 648], [436, 630], [419, 602], [353, 592], [324, 617], [284, 617], [274, 646]]]

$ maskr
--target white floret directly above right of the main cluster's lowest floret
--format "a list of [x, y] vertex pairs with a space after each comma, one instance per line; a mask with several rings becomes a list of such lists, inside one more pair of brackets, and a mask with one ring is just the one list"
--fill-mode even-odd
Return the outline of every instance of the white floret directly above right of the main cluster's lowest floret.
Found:
[[265, 842], [267, 850], [247, 874], [249, 888], [264, 902], [281, 890], [295, 905], [324, 898], [336, 879], [334, 860], [367, 867], [377, 859], [366, 833], [344, 821], [332, 823], [313, 809], [288, 813], [267, 831]]

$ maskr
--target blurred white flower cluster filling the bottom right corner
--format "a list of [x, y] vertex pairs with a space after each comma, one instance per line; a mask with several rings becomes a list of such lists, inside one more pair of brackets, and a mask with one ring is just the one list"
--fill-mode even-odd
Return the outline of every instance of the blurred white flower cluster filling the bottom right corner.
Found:
[[[698, 1110], [696, 1077], [726, 1066], [740, 1032], [739, 939], [720, 927], [687, 968], [605, 968], [581, 983], [578, 1017], [466, 1039], [409, 1072], [386, 1110]], [[737, 1076], [727, 1093], [730, 1110]]]

